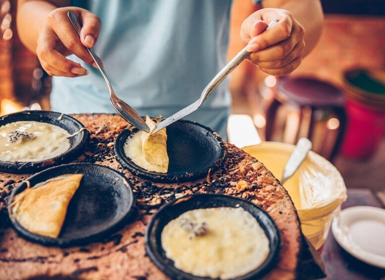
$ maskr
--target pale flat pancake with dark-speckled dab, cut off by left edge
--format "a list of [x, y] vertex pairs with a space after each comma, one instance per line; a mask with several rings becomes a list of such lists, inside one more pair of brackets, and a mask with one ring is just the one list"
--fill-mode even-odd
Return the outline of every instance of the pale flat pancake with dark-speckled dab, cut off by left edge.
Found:
[[0, 127], [0, 160], [38, 162], [64, 153], [70, 147], [65, 129], [38, 121], [16, 121]]

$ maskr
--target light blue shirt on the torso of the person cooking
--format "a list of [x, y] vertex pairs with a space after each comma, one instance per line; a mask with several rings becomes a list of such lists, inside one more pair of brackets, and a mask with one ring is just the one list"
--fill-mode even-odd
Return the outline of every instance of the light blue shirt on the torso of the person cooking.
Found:
[[[193, 103], [226, 63], [231, 0], [88, 0], [73, 4], [101, 18], [95, 53], [102, 58], [116, 95], [139, 113], [155, 110], [168, 116]], [[69, 58], [80, 62], [76, 56]], [[84, 77], [54, 77], [53, 109], [113, 112], [99, 70], [85, 67], [90, 73]], [[225, 80], [204, 107], [227, 110], [230, 102]]]

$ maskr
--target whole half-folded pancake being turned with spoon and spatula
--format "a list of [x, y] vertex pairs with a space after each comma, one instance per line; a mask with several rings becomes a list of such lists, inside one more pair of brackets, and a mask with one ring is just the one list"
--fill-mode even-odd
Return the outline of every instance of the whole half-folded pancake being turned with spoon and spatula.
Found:
[[[149, 116], [146, 123], [151, 131], [155, 129], [156, 122]], [[166, 129], [153, 135], [150, 133], [139, 131], [128, 138], [124, 145], [124, 152], [138, 166], [149, 171], [166, 173], [168, 169]]]

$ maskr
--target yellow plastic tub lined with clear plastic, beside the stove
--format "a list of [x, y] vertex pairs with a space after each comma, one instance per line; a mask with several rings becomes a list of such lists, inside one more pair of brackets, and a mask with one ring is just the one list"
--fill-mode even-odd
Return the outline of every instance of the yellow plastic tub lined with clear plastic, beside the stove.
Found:
[[[294, 145], [262, 142], [242, 148], [281, 179]], [[303, 164], [283, 186], [301, 221], [302, 232], [319, 250], [325, 243], [332, 218], [346, 200], [346, 186], [339, 171], [325, 158], [310, 151]]]

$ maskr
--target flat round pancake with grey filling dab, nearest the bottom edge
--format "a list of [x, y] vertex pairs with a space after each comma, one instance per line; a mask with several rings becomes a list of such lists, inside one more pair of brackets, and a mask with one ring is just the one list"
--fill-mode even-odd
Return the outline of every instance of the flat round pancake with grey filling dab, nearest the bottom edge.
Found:
[[245, 275], [270, 252], [265, 231], [241, 207], [187, 211], [166, 224], [161, 239], [176, 268], [215, 279]]

